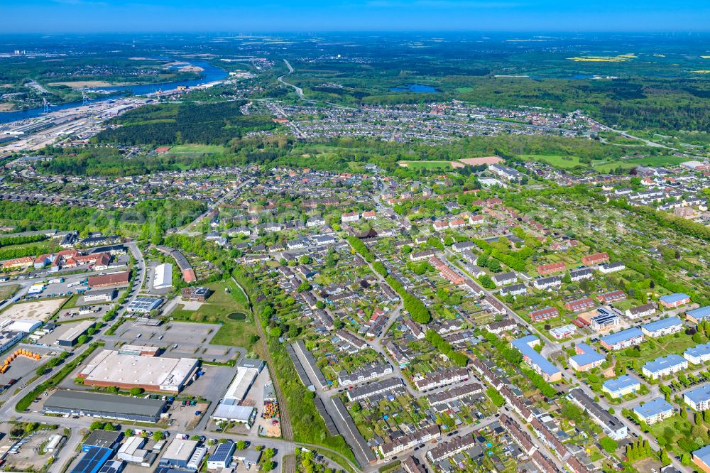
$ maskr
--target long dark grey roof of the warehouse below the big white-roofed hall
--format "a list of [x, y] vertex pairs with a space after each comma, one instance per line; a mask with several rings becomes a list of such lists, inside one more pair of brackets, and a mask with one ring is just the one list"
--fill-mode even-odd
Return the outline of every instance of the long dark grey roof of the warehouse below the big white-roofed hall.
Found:
[[57, 391], [47, 398], [44, 408], [47, 411], [61, 408], [158, 417], [165, 410], [165, 401], [84, 391]]

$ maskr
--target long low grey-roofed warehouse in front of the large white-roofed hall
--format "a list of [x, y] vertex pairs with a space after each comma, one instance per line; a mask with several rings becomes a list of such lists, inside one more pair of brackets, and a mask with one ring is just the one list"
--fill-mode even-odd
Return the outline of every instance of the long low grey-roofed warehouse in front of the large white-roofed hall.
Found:
[[131, 398], [89, 391], [56, 391], [44, 403], [43, 413], [86, 415], [116, 420], [156, 423], [165, 412], [165, 401]]

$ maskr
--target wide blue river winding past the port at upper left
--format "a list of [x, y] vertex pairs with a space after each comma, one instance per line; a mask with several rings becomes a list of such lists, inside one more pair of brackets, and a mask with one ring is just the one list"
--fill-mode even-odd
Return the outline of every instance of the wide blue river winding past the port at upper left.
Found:
[[[182, 61], [186, 62], [186, 61]], [[224, 77], [229, 76], [229, 74], [209, 62], [204, 61], [192, 61], [190, 65], [195, 65], [197, 67], [202, 67], [201, 77], [192, 80], [181, 80], [178, 82], [163, 82], [162, 84], [142, 84], [142, 85], [119, 85], [115, 87], [94, 87], [92, 90], [104, 90], [106, 92], [114, 92], [112, 94], [107, 94], [104, 97], [98, 97], [92, 99], [90, 103], [104, 102], [104, 100], [115, 99], [116, 94], [120, 92], [130, 90], [134, 95], [151, 94], [153, 92], [158, 92], [158, 89], [163, 92], [168, 92], [170, 90], [175, 90], [178, 86], [184, 85], [185, 87], [195, 87], [195, 85], [206, 84], [207, 82], [214, 82], [216, 80], [222, 80]], [[79, 107], [82, 101], [77, 102], [67, 102], [65, 104], [58, 104], [55, 107], [50, 107], [50, 112], [56, 112], [57, 110], [71, 109], [73, 107]], [[18, 112], [1, 112], [0, 113], [0, 123], [9, 123], [11, 121], [23, 120], [34, 118], [35, 116], [40, 116], [44, 113], [44, 107], [37, 107], [35, 109], [21, 110]]]

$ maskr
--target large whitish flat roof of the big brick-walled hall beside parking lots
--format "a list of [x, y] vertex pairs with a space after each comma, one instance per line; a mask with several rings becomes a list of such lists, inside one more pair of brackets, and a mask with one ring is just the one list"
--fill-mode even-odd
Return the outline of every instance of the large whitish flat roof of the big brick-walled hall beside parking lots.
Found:
[[102, 350], [79, 376], [84, 383], [136, 386], [155, 386], [165, 391], [174, 391], [185, 385], [197, 368], [194, 358], [141, 357], [119, 354], [114, 350]]

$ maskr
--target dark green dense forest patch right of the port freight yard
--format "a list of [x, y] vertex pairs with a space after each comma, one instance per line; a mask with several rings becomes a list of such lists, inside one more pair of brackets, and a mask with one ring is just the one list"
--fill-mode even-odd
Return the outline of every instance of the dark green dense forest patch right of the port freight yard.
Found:
[[226, 144], [250, 131], [275, 129], [271, 116], [243, 115], [243, 101], [155, 104], [116, 117], [94, 141], [129, 145]]

